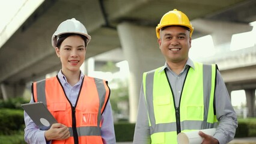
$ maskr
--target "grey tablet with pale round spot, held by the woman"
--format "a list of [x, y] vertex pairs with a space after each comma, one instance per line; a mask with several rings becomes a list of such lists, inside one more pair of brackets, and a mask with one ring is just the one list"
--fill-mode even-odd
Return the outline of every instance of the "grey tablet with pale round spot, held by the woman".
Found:
[[48, 130], [52, 124], [58, 123], [43, 102], [26, 103], [21, 106], [40, 130]]

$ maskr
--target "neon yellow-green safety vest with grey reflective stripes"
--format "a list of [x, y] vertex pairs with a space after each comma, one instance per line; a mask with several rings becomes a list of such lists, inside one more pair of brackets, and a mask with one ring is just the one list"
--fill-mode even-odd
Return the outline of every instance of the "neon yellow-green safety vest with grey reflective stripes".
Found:
[[217, 126], [213, 106], [216, 65], [196, 62], [194, 65], [195, 70], [189, 68], [187, 72], [180, 106], [175, 106], [165, 71], [159, 72], [162, 67], [144, 73], [143, 86], [152, 143], [177, 143], [177, 127], [181, 131], [190, 131]]

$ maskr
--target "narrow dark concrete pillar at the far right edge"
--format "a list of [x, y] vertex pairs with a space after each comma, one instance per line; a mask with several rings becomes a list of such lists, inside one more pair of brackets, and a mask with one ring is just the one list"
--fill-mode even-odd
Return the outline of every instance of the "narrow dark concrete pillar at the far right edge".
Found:
[[255, 89], [245, 89], [248, 117], [255, 117]]

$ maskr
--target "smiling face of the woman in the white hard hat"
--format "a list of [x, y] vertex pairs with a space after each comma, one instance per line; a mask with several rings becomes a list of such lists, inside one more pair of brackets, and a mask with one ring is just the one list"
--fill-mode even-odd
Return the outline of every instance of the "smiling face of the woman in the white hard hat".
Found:
[[56, 55], [61, 59], [62, 73], [78, 72], [85, 60], [85, 41], [79, 35], [67, 37], [61, 46], [55, 48]]

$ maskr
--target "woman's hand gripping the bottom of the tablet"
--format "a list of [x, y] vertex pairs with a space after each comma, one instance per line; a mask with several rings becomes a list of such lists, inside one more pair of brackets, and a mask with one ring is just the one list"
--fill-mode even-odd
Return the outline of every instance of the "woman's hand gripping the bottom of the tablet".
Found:
[[65, 140], [70, 137], [69, 128], [63, 124], [53, 124], [49, 130], [45, 131], [44, 137], [49, 140]]

